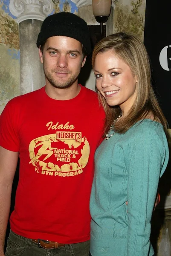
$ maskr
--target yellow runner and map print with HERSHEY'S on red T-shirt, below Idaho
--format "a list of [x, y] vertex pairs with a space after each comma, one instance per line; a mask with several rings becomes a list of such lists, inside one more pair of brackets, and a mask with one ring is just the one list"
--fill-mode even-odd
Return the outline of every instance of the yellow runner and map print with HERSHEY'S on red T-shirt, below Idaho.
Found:
[[70, 177], [83, 172], [90, 155], [90, 145], [81, 132], [57, 131], [32, 140], [30, 164], [43, 175]]

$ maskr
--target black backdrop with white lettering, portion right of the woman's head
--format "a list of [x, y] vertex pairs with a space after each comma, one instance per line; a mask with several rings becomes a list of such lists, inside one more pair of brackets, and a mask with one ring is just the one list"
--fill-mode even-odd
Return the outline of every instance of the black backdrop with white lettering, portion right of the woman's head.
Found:
[[171, 0], [146, 0], [144, 44], [152, 84], [171, 128]]

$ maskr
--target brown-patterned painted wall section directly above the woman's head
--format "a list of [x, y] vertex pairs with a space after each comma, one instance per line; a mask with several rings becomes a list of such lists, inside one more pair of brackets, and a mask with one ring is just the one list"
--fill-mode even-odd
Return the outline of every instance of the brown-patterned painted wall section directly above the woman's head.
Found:
[[146, 0], [118, 0], [114, 12], [114, 32], [133, 32], [143, 40]]

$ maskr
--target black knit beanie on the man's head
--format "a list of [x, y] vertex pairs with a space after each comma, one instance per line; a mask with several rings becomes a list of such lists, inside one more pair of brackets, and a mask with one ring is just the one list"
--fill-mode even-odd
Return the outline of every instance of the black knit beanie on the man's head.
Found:
[[70, 12], [59, 12], [46, 17], [38, 34], [37, 47], [52, 36], [62, 35], [78, 40], [84, 45], [87, 54], [91, 52], [90, 35], [87, 23]]

